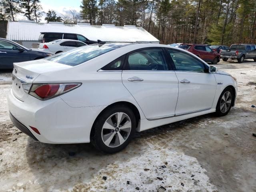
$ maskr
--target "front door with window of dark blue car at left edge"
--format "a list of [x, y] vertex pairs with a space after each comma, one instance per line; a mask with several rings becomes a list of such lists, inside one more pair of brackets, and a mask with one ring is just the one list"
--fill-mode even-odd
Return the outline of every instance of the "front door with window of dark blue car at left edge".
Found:
[[20, 47], [6, 40], [0, 40], [0, 68], [13, 68], [14, 62], [30, 60], [30, 54], [26, 50], [19, 51]]

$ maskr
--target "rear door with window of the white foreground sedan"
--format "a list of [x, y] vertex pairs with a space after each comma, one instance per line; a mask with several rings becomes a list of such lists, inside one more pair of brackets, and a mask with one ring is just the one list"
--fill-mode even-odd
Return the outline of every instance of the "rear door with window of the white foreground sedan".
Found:
[[148, 120], [172, 117], [178, 99], [178, 79], [162, 48], [127, 54], [122, 82]]

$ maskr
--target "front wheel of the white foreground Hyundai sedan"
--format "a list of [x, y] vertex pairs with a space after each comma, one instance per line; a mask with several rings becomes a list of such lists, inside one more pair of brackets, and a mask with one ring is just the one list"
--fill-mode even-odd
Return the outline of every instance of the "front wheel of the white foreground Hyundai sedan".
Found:
[[220, 94], [220, 98], [218, 100], [216, 106], [216, 115], [224, 116], [228, 114], [232, 107], [232, 101], [234, 99], [234, 93], [230, 87], [227, 87]]

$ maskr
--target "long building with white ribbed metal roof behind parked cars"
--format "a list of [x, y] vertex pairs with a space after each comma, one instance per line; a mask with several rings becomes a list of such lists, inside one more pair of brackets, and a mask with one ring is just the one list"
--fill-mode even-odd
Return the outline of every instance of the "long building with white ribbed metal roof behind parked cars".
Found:
[[[34, 21], [8, 22], [6, 38], [31, 48], [30, 43], [38, 42], [40, 32], [63, 32], [81, 34], [89, 40], [102, 41], [142, 41], [159, 43], [159, 40], [152, 36], [142, 27], [136, 26], [115, 26], [110, 24], [90, 25], [87, 23], [63, 24], [62, 22], [35, 23]], [[31, 45], [32, 46], [32, 45]]]

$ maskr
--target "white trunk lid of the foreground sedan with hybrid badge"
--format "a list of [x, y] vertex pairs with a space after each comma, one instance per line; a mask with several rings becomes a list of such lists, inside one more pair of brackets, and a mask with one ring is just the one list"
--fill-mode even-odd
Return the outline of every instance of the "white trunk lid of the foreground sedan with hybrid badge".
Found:
[[12, 92], [16, 98], [24, 101], [28, 97], [22, 84], [32, 84], [33, 81], [42, 73], [52, 72], [72, 66], [47, 61], [44, 59], [14, 63], [12, 71]]

